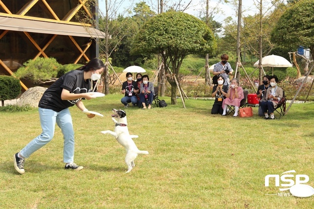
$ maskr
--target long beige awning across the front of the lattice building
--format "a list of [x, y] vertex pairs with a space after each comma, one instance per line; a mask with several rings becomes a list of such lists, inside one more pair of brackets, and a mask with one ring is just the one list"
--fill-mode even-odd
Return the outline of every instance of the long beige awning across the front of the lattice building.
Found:
[[22, 32], [26, 31], [32, 33], [56, 34], [64, 36], [93, 37], [103, 39], [105, 38], [104, 32], [93, 27], [34, 21], [10, 17], [0, 17], [0, 29]]

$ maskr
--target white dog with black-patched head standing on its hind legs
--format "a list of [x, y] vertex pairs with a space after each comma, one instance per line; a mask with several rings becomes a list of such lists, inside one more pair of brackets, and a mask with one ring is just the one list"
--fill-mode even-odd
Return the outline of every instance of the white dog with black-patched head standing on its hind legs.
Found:
[[[127, 150], [127, 156], [126, 156], [126, 163], [128, 165], [128, 171], [126, 173], [129, 173], [133, 167], [135, 166], [134, 160], [137, 157], [138, 154], [144, 154], [148, 155], [149, 153], [147, 151], [141, 151], [139, 150], [132, 138], [138, 138], [137, 135], [130, 135], [128, 130], [128, 121], [127, 121], [127, 114], [123, 110], [116, 110], [112, 109], [112, 112], [114, 115], [111, 116], [111, 119], [113, 122], [115, 122], [115, 128], [113, 131], [101, 131], [102, 134], [111, 134], [114, 136], [117, 141], [124, 146]], [[117, 118], [117, 119], [115, 119]]]

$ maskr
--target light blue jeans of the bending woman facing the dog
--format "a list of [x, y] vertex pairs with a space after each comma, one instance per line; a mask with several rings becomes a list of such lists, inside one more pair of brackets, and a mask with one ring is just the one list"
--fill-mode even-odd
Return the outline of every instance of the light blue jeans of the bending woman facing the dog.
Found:
[[63, 139], [63, 162], [74, 162], [74, 130], [72, 124], [72, 117], [69, 108], [60, 112], [55, 112], [50, 109], [38, 108], [40, 124], [43, 129], [41, 135], [30, 141], [24, 147], [20, 154], [24, 158], [28, 158], [32, 153], [42, 148], [45, 144], [52, 140], [55, 123], [60, 127]]

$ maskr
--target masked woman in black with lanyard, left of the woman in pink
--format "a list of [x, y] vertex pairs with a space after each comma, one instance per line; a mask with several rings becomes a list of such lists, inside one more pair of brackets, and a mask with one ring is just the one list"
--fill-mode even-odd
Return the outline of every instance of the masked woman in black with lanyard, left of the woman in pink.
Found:
[[225, 79], [222, 77], [222, 75], [217, 76], [217, 82], [218, 82], [218, 85], [212, 88], [211, 96], [212, 97], [215, 96], [216, 98], [211, 108], [211, 114], [222, 115], [223, 113], [222, 101], [226, 98], [226, 95], [228, 92], [228, 86], [223, 85], [225, 83]]

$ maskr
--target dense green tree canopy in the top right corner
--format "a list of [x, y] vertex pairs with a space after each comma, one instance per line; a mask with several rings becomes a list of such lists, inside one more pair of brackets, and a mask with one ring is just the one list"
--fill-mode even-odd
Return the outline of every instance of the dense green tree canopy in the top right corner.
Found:
[[314, 59], [314, 1], [302, 0], [293, 4], [281, 16], [271, 33], [272, 41], [296, 50], [310, 48]]

